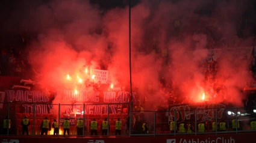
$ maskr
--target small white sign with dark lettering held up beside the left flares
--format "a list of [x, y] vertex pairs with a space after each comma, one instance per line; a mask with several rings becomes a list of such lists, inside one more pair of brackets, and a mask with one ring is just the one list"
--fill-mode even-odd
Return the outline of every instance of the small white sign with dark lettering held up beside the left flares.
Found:
[[90, 69], [90, 76], [93, 82], [101, 81], [102, 84], [108, 83], [108, 70]]

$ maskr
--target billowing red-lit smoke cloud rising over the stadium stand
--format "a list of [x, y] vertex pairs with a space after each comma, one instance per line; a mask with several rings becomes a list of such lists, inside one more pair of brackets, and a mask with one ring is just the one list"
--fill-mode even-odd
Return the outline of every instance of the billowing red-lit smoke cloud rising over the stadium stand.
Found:
[[[216, 78], [207, 78], [210, 84], [205, 82], [206, 69], [199, 66], [205, 64], [209, 43], [207, 29], [202, 25], [216, 26], [217, 37], [235, 35], [236, 22], [241, 17], [238, 13], [234, 15], [236, 7], [233, 2], [200, 0], [143, 1], [135, 5], [131, 9], [131, 63], [133, 85], [139, 87], [140, 97], [146, 96], [149, 84], [158, 91], [158, 82], [164, 76], [172, 78], [175, 88], [181, 91], [176, 96], [188, 97], [187, 102], [201, 100], [202, 93], [207, 99], [208, 94], [214, 93], [214, 87], [208, 85], [215, 81], [219, 86], [226, 86], [227, 94], [209, 102], [226, 99], [241, 105], [240, 88], [251, 80], [249, 57], [241, 58], [237, 52], [225, 51], [217, 60]], [[211, 13], [205, 11], [208, 15], [197, 13], [207, 8], [211, 9]], [[204, 22], [196, 22], [199, 18]], [[177, 19], [181, 20], [180, 28], [173, 26]], [[30, 43], [27, 50], [31, 64], [43, 75], [42, 84], [71, 90], [78, 87], [67, 85], [66, 75], [90, 78], [85, 74], [86, 68], [110, 71], [111, 81], [116, 86], [129, 84], [128, 24], [128, 6], [102, 14], [96, 5], [78, 0], [55, 0], [47, 4], [26, 1], [23, 10], [17, 9], [5, 22], [6, 30], [14, 27], [11, 30], [38, 33], [37, 40]], [[167, 58], [154, 52], [163, 49], [168, 51]], [[151, 99], [155, 104], [164, 104], [167, 100], [160, 92]], [[61, 97], [54, 100], [54, 103], [62, 102]]]

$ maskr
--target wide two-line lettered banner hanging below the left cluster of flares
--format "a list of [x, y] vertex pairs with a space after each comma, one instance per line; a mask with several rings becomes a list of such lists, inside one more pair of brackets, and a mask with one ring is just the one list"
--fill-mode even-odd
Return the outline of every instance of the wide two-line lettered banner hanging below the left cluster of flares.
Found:
[[[3, 92], [4, 93], [4, 92]], [[127, 108], [130, 92], [126, 91], [78, 91], [75, 94], [70, 90], [58, 90], [58, 93], [47, 94], [45, 91], [5, 90], [7, 102], [19, 105], [16, 111], [20, 113], [58, 114], [58, 103], [61, 103], [61, 114], [82, 114], [85, 105], [85, 114], [126, 114], [123, 108]], [[133, 101], [136, 102], [136, 93], [133, 93]], [[59, 101], [58, 103], [53, 102]], [[20, 103], [22, 102], [22, 103]], [[27, 102], [27, 103], [23, 103]], [[35, 105], [34, 105], [35, 103]], [[51, 103], [55, 103], [52, 105]], [[20, 110], [20, 111], [19, 111]]]

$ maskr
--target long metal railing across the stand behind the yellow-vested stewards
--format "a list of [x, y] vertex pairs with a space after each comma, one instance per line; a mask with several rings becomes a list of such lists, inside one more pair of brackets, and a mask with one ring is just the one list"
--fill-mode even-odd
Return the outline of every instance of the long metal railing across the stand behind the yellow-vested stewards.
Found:
[[[128, 112], [128, 104], [35, 104], [25, 105], [24, 103], [2, 103], [3, 108], [0, 114], [6, 115], [7, 121], [1, 127], [1, 135], [22, 135], [22, 120], [25, 115], [30, 120], [29, 135], [40, 135], [40, 125], [45, 117], [53, 123], [58, 122], [59, 135], [63, 135], [63, 120], [70, 120], [70, 136], [77, 136], [76, 122], [79, 118], [83, 120], [83, 133], [79, 136], [90, 136], [90, 123], [95, 118], [98, 121], [96, 132], [102, 136], [102, 121], [107, 118], [109, 126], [107, 135], [116, 135], [116, 121], [122, 121], [121, 136], [159, 136], [159, 135], [198, 135], [218, 133], [240, 133], [255, 132], [256, 127], [252, 124], [255, 121], [255, 110], [245, 111], [244, 108], [211, 108], [195, 110], [174, 110], [174, 111], [131, 111]], [[5, 117], [5, 116], [3, 116]], [[129, 118], [131, 117], [131, 118]], [[8, 122], [11, 120], [11, 125]], [[216, 126], [213, 126], [213, 122]], [[171, 126], [173, 124], [173, 126]], [[181, 132], [182, 126], [185, 125]], [[199, 124], [204, 124], [202, 131]], [[225, 125], [224, 127], [220, 127]], [[234, 126], [235, 124], [235, 126]], [[10, 129], [8, 128], [10, 125]], [[221, 129], [220, 129], [221, 128]], [[129, 132], [128, 132], [129, 131]], [[189, 132], [188, 132], [189, 131]], [[191, 132], [190, 132], [191, 131]], [[48, 131], [53, 135], [53, 129]]]

